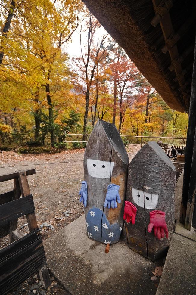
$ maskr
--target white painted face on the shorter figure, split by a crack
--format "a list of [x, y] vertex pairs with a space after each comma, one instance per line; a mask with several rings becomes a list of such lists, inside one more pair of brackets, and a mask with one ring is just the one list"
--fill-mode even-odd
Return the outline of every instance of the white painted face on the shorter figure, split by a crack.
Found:
[[136, 188], [132, 188], [132, 197], [138, 206], [145, 207], [146, 209], [156, 208], [159, 200], [158, 194], [150, 194]]

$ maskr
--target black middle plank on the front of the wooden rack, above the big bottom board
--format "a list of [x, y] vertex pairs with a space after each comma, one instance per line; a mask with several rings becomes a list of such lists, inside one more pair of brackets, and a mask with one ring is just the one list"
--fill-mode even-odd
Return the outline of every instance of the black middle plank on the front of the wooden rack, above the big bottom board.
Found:
[[0, 206], [0, 225], [35, 211], [33, 196], [29, 195]]

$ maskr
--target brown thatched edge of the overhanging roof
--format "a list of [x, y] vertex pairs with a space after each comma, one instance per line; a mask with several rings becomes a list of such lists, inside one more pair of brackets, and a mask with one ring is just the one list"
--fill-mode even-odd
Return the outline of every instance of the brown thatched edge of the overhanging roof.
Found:
[[[97, 17], [114, 40], [126, 51], [126, 54], [135, 63], [148, 82], [157, 90], [168, 106], [179, 112], [188, 111], [189, 101], [185, 101], [183, 95], [179, 95], [180, 92], [176, 91], [176, 87], [173, 87], [171, 79], [169, 81], [167, 79], [168, 75], [163, 73], [160, 63], [148, 42], [148, 34], [145, 34], [138, 24], [137, 11], [130, 12], [130, 5], [128, 6], [127, 3], [130, 4], [133, 0], [82, 1], [95, 17]], [[147, 2], [149, 3], [148, 0]], [[134, 17], [134, 14], [137, 17]], [[172, 83], [175, 84], [174, 81]]]

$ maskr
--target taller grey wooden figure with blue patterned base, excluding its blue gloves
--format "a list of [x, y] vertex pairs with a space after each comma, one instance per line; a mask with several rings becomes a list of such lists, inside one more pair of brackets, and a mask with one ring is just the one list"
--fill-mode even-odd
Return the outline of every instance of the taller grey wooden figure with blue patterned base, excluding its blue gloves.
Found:
[[[102, 243], [118, 242], [123, 228], [123, 208], [129, 158], [114, 124], [98, 121], [84, 154], [84, 179], [88, 186], [85, 208], [87, 234]], [[104, 208], [107, 186], [120, 186], [121, 203], [117, 208]]]

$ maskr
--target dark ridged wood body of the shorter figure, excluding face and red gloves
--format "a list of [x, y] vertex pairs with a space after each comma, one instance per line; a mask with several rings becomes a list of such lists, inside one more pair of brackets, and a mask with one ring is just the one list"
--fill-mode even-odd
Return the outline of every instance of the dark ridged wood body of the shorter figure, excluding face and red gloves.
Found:
[[[156, 142], [145, 144], [129, 164], [126, 200], [137, 207], [135, 224], [125, 222], [129, 247], [151, 260], [162, 256], [170, 244], [174, 222], [175, 180], [176, 168]], [[132, 188], [143, 192], [140, 197], [144, 202], [148, 201], [145, 193], [158, 194], [157, 206], [149, 209], [145, 208], [145, 203], [144, 207], [138, 206], [134, 202]], [[153, 230], [151, 233], [147, 231], [149, 213], [153, 210], [165, 212], [168, 239], [165, 237], [158, 240]]]

